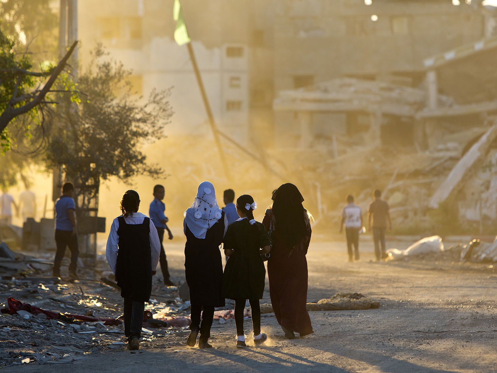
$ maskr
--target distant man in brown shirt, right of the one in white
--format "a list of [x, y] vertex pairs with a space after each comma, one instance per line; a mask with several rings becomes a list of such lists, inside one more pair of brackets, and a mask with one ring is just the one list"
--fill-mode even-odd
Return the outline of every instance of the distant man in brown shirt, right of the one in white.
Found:
[[[385, 259], [385, 231], [392, 230], [392, 220], [390, 219], [390, 206], [386, 201], [381, 199], [381, 191], [374, 191], [374, 201], [369, 204], [368, 208], [368, 231], [373, 228], [374, 252], [376, 260]], [[373, 224], [371, 224], [371, 220]], [[381, 250], [380, 250], [381, 244]]]

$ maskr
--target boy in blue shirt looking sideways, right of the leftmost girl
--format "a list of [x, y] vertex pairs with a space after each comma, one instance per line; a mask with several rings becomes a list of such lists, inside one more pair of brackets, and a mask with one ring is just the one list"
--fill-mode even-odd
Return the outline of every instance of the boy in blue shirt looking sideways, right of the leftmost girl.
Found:
[[167, 231], [169, 240], [172, 240], [172, 233], [166, 225], [169, 219], [166, 217], [166, 215], [164, 215], [164, 211], [166, 211], [166, 205], [162, 200], [164, 199], [165, 194], [166, 190], [162, 185], [156, 185], [154, 187], [154, 200], [150, 202], [149, 216], [157, 229], [157, 233], [159, 234], [159, 241], [161, 241], [161, 255], [159, 256], [159, 263], [161, 263], [161, 271], [164, 277], [164, 284], [166, 286], [176, 286], [176, 284], [169, 279], [166, 251], [164, 251], [163, 245], [165, 230]]

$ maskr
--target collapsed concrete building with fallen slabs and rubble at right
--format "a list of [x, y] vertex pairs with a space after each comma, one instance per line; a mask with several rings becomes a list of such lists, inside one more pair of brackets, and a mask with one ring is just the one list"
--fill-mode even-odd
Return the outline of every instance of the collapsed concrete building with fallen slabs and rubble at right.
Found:
[[338, 78], [280, 91], [273, 102], [286, 118], [275, 129], [279, 148], [300, 150], [331, 221], [347, 194], [365, 209], [380, 188], [399, 233], [490, 232], [497, 225], [496, 53], [493, 36], [432, 56], [417, 88]]

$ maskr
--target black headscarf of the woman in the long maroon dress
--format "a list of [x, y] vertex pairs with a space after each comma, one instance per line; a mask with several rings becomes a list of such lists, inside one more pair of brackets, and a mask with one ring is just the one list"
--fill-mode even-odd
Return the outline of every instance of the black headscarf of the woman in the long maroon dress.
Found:
[[278, 238], [290, 248], [297, 246], [307, 235], [304, 216], [304, 197], [293, 184], [283, 184], [272, 196], [273, 214], [276, 220]]

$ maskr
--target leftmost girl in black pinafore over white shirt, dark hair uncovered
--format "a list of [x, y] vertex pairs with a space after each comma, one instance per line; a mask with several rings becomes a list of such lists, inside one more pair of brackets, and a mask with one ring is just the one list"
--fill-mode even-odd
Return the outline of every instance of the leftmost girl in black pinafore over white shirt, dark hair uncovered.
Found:
[[161, 253], [157, 229], [151, 219], [138, 212], [140, 196], [134, 190], [124, 193], [122, 215], [112, 222], [107, 240], [107, 263], [124, 298], [124, 335], [129, 349], [138, 350], [145, 302], [152, 292]]

